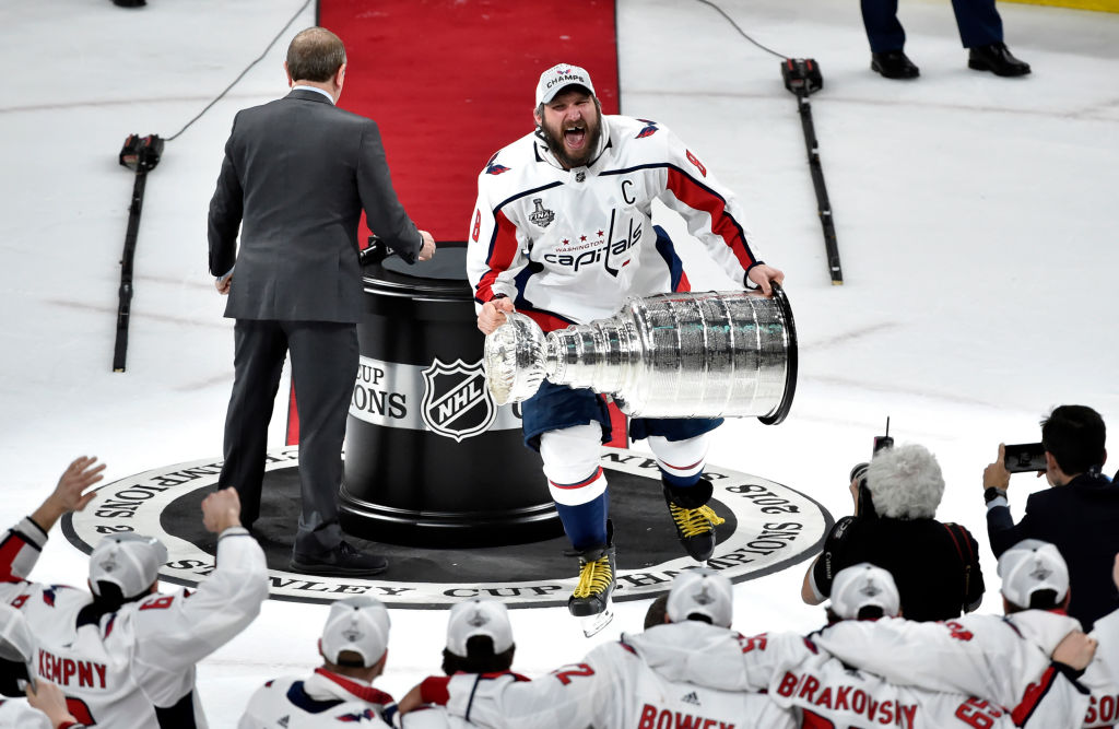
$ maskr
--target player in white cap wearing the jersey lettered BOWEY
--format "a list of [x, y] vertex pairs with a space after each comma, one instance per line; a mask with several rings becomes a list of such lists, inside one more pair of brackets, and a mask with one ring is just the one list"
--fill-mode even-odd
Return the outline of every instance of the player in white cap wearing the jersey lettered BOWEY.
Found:
[[[762, 694], [716, 688], [726, 680], [725, 665], [708, 662], [706, 648], [737, 637], [730, 629], [732, 611], [730, 580], [687, 570], [673, 581], [664, 625], [623, 634], [535, 681], [457, 674], [442, 685], [421, 684], [423, 699], [493, 729], [796, 727], [791, 712]], [[741, 672], [741, 658], [735, 665]]]

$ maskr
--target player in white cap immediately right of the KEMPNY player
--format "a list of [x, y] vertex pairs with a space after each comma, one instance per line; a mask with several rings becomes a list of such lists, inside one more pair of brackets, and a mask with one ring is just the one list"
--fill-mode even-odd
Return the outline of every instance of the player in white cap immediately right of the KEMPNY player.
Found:
[[338, 600], [319, 639], [323, 664], [309, 677], [269, 681], [256, 690], [238, 729], [310, 729], [356, 723], [388, 728], [396, 702], [372, 683], [388, 658], [388, 610], [358, 596]]

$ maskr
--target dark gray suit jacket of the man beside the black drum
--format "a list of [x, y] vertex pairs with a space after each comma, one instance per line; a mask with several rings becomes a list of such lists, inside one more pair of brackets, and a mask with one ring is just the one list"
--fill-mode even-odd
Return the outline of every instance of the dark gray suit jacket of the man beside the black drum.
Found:
[[396, 198], [376, 122], [302, 90], [241, 111], [209, 207], [210, 273], [237, 264], [225, 316], [357, 321], [363, 208], [413, 262], [420, 233]]

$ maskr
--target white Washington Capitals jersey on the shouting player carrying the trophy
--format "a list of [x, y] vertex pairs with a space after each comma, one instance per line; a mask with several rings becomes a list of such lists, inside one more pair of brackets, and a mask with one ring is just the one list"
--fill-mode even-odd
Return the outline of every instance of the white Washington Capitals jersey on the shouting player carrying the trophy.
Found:
[[478, 176], [467, 277], [481, 305], [514, 301], [545, 331], [613, 315], [631, 296], [688, 291], [675, 246], [652, 225], [652, 200], [679, 213], [733, 280], [759, 263], [742, 209], [664, 124], [602, 116], [601, 153], [563, 169], [535, 133]]

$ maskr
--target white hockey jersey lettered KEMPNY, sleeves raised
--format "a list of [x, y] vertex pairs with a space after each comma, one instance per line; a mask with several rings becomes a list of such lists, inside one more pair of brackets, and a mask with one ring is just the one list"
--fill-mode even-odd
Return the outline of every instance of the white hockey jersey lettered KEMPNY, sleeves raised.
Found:
[[[217, 568], [192, 594], [156, 594], [77, 626], [93, 597], [26, 578], [47, 535], [30, 518], [0, 541], [0, 599], [19, 608], [38, 641], [34, 667], [58, 684], [82, 723], [151, 729], [206, 727], [195, 664], [237, 635], [267, 597], [264, 552], [244, 529], [222, 533]], [[157, 707], [159, 710], [157, 711]]]

